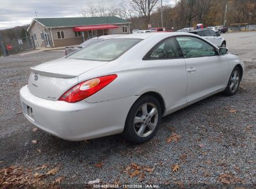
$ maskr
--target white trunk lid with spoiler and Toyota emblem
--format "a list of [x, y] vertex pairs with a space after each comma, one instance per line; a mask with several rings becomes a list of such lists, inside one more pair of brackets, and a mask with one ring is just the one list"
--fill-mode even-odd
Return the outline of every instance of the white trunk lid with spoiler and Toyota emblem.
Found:
[[107, 62], [60, 58], [31, 67], [29, 91], [40, 98], [58, 100], [78, 83], [78, 76]]

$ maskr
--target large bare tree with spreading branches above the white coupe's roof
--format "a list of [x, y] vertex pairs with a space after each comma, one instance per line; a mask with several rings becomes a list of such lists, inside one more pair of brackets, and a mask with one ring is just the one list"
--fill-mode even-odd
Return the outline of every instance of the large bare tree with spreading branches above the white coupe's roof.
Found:
[[135, 13], [142, 17], [145, 26], [151, 21], [151, 14], [158, 0], [130, 0], [130, 6]]

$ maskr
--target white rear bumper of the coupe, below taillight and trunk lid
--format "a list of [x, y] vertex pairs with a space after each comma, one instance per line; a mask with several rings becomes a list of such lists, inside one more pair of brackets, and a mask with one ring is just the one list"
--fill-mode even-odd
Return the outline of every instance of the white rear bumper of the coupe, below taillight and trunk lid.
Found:
[[122, 132], [128, 111], [137, 98], [130, 96], [100, 103], [66, 103], [34, 96], [27, 85], [20, 91], [24, 116], [45, 132], [69, 141]]

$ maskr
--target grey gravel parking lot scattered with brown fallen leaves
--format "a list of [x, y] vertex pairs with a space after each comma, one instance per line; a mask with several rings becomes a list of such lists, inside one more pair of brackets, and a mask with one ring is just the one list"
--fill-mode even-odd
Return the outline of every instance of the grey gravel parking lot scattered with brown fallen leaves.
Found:
[[256, 32], [222, 36], [229, 51], [245, 63], [238, 93], [216, 94], [166, 116], [154, 139], [141, 145], [119, 135], [70, 142], [36, 131], [21, 113], [19, 89], [27, 83], [29, 67], [64, 52], [0, 58], [0, 188], [13, 170], [41, 187], [85, 188], [98, 178], [101, 183], [142, 187], [149, 183], [166, 188], [254, 188]]

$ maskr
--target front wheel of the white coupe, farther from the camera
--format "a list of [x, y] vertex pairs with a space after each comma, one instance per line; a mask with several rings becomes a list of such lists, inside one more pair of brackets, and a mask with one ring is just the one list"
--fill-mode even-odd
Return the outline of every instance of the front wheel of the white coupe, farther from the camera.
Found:
[[235, 67], [232, 71], [227, 87], [225, 88], [224, 94], [226, 96], [232, 96], [237, 93], [241, 81], [241, 71], [238, 67]]

